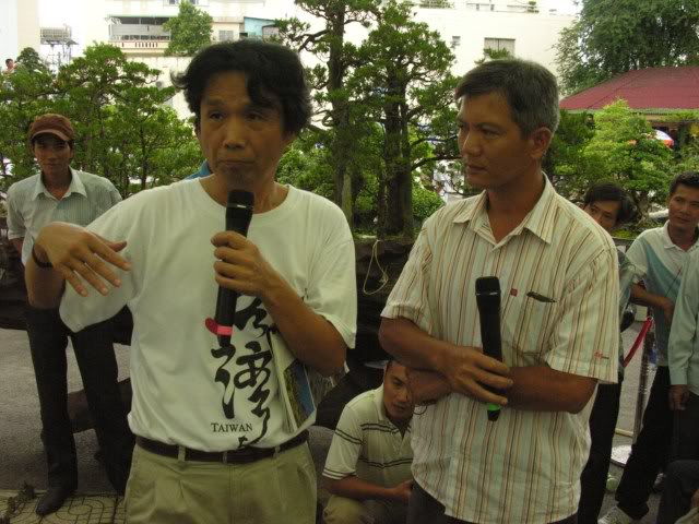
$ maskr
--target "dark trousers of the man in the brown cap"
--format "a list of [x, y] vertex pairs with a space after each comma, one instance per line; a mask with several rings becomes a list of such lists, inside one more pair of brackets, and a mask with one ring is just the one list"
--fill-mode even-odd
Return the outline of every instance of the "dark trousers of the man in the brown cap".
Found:
[[107, 476], [123, 493], [133, 451], [133, 434], [117, 388], [118, 367], [109, 321], [72, 333], [56, 309], [27, 307], [27, 333], [39, 394], [49, 487], [78, 485], [75, 441], [68, 415], [68, 337], [73, 343]]

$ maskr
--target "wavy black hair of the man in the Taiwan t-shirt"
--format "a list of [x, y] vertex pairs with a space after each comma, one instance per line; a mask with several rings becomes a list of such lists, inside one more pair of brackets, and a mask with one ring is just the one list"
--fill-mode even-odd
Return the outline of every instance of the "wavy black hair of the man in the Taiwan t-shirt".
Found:
[[311, 114], [306, 74], [298, 55], [280, 44], [256, 38], [222, 41], [199, 51], [187, 70], [173, 75], [173, 84], [185, 92], [189, 109], [200, 122], [201, 99], [211, 78], [217, 73], [245, 73], [253, 103], [270, 106], [269, 95], [282, 104], [285, 132], [298, 134]]

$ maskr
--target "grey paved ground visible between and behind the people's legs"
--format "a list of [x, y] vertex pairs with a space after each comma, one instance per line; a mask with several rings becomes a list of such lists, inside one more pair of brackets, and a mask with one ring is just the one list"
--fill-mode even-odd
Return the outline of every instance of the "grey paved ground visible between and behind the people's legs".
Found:
[[[628, 348], [638, 333], [639, 325], [625, 333]], [[117, 347], [120, 378], [128, 376], [128, 348]], [[636, 397], [638, 391], [640, 355], [627, 369], [624, 384], [624, 398], [618, 428], [632, 430]], [[16, 495], [24, 483], [46, 489], [46, 469], [44, 452], [39, 440], [40, 421], [36, 384], [32, 371], [28, 342], [22, 331], [0, 330], [0, 522], [4, 515], [8, 499]], [[652, 380], [652, 376], [650, 378]], [[650, 383], [650, 381], [649, 381]], [[81, 389], [80, 374], [72, 350], [69, 350], [70, 389]], [[318, 477], [324, 463], [332, 433], [323, 428], [313, 428], [310, 445], [316, 461]], [[93, 431], [75, 436], [79, 450], [80, 486], [76, 497], [58, 513], [40, 520], [34, 514], [34, 503], [27, 503], [20, 515], [12, 520], [16, 523], [121, 523], [123, 511], [119, 498], [116, 497], [106, 480], [99, 464], [94, 460], [97, 451]], [[630, 444], [630, 439], [617, 436], [619, 445]], [[620, 475], [621, 469], [613, 466], [613, 473]], [[321, 501], [327, 493], [320, 489]], [[654, 523], [657, 512], [659, 496], [653, 495], [650, 501], [651, 513], [643, 523]], [[608, 495], [603, 510], [613, 503]]]

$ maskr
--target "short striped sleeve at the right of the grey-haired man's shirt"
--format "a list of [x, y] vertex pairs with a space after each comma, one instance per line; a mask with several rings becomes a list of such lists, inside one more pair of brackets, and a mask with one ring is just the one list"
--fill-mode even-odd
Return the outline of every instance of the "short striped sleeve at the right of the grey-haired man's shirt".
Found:
[[546, 362], [565, 373], [614, 383], [618, 344], [618, 263], [608, 246], [568, 284]]

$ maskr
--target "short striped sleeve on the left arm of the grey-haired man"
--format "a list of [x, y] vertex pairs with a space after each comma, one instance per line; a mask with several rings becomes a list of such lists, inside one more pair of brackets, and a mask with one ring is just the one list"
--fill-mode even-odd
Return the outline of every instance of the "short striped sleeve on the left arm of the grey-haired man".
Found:
[[425, 223], [411, 250], [401, 276], [391, 290], [381, 317], [387, 319], [407, 319], [420, 330], [430, 333], [433, 319], [429, 310], [429, 271], [433, 252], [428, 240], [428, 227], [431, 218]]

